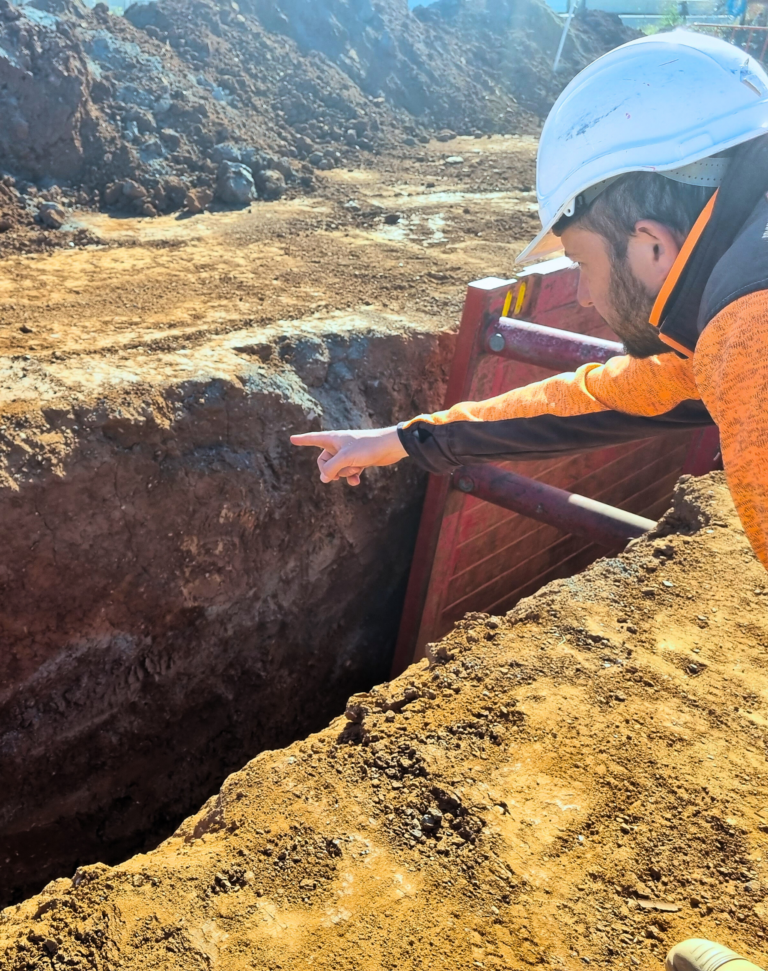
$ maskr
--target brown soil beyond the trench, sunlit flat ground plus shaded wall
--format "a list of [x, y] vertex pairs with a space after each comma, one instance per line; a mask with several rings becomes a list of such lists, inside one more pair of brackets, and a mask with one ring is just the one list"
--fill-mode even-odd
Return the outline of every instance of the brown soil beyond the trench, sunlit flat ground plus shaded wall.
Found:
[[288, 434], [440, 406], [466, 282], [533, 231], [534, 152], [461, 139], [250, 213], [86, 213], [104, 245], [4, 260], [3, 904], [155, 846], [386, 677], [424, 477], [327, 489]]

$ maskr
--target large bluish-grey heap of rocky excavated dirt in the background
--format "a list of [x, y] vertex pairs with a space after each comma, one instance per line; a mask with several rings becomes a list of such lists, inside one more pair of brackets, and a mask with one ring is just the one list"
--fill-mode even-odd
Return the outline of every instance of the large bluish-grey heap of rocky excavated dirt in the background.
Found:
[[144, 216], [305, 193], [429, 130], [535, 131], [573, 73], [633, 36], [606, 23], [578, 19], [553, 75], [561, 23], [543, 0], [418, 15], [406, 0], [159, 0], [125, 16], [0, 0], [0, 159], [35, 215], [54, 186], [64, 209]]

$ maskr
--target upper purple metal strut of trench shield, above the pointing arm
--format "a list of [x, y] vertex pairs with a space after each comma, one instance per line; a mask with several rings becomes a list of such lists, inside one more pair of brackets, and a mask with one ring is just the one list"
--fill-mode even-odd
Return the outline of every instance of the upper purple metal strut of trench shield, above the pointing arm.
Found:
[[624, 353], [616, 341], [509, 317], [502, 317], [488, 328], [484, 344], [490, 354], [550, 371], [573, 371], [582, 364], [604, 364], [609, 358]]

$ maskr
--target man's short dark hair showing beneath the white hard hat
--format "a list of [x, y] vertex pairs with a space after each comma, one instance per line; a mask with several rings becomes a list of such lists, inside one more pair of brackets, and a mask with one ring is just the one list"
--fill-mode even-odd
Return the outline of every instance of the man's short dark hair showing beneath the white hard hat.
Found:
[[624, 260], [639, 220], [662, 223], [682, 243], [714, 191], [710, 186], [675, 182], [658, 172], [629, 172], [611, 183], [591, 206], [559, 219], [553, 232], [560, 236], [569, 226], [579, 225], [602, 236], [614, 259]]

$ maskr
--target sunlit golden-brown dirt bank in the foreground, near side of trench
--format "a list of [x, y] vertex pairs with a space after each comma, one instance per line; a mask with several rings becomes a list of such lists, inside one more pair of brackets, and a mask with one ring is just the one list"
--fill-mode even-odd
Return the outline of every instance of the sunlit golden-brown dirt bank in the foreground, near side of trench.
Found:
[[683, 480], [155, 852], [3, 911], [0, 968], [657, 971], [688, 936], [762, 964], [767, 588], [723, 476]]

